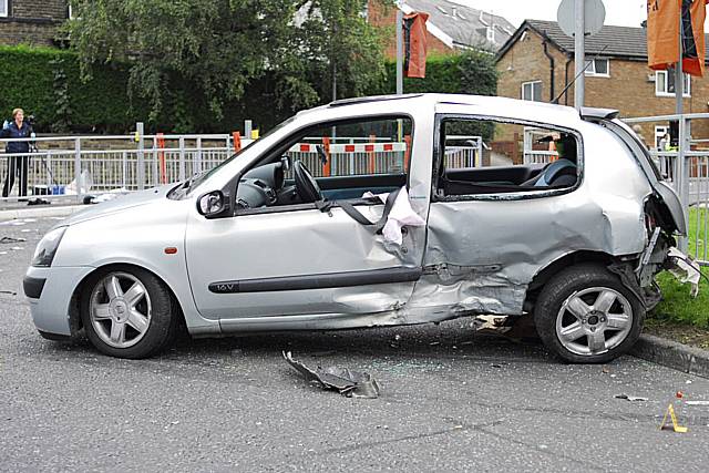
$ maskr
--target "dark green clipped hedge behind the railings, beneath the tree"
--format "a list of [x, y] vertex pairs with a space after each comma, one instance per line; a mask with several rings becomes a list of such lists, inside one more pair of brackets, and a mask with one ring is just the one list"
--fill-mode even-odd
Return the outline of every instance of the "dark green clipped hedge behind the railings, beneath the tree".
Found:
[[[292, 114], [288, 103], [276, 96], [275, 81], [268, 76], [247, 85], [243, 100], [227, 103], [224, 117], [215, 120], [204, 96], [175, 75], [164, 84], [164, 112], [148, 120], [145, 103], [127, 92], [127, 66], [95, 66], [92, 78], [82, 81], [79, 59], [72, 51], [50, 48], [0, 47], [0, 117], [9, 119], [20, 106], [37, 117], [38, 132], [65, 131], [129, 133], [135, 122], [146, 124], [147, 132], [205, 133], [239, 130], [243, 120], [251, 119], [256, 127], [267, 131]], [[319, 81], [327, 86], [329, 81]], [[387, 62], [386, 75], [372, 94], [395, 92], [395, 62]], [[494, 95], [496, 74], [494, 58], [485, 53], [431, 55], [425, 79], [404, 79], [404, 92], [442, 92]], [[326, 96], [321, 93], [320, 96]], [[461, 130], [465, 134], [485, 131]]]

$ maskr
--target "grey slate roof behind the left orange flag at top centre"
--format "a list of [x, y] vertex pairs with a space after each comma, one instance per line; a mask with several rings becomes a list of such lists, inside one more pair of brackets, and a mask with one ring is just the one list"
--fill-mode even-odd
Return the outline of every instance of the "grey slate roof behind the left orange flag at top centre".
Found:
[[[404, 0], [401, 9], [404, 13], [429, 13], [429, 31], [435, 37], [440, 33], [448, 37], [439, 39], [449, 47], [497, 51], [515, 31], [514, 25], [503, 17], [448, 0]], [[490, 27], [495, 32], [493, 42], [487, 40]]]

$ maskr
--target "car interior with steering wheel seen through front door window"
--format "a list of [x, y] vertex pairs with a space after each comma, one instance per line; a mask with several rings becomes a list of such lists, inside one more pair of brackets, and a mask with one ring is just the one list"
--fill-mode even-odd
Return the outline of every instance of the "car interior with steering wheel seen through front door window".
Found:
[[[408, 117], [349, 121], [301, 132], [242, 176], [237, 207], [255, 209], [351, 199], [374, 203], [363, 195], [390, 193], [407, 184], [405, 155], [410, 141], [403, 152], [377, 151], [384, 143], [403, 146], [404, 133], [410, 140]], [[341, 143], [353, 148], [356, 144], [368, 144], [373, 151], [330, 152], [337, 147], [332, 144], [341, 148]], [[308, 151], [302, 152], [304, 147]]]

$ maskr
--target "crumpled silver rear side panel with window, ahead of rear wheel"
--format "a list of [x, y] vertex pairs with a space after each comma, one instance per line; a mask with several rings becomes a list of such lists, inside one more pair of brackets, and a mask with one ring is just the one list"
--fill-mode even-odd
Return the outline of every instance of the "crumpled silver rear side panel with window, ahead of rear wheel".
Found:
[[[602, 228], [577, 230], [598, 220], [598, 208], [588, 205], [582, 187], [580, 134], [454, 111], [438, 115], [439, 173], [429, 213], [425, 271], [410, 306], [520, 315], [527, 285], [541, 268], [574, 250], [595, 249], [603, 240]], [[449, 146], [446, 138], [461, 130], [480, 133], [491, 144], [481, 166], [456, 168], [460, 150]], [[517, 138], [525, 133], [533, 135], [530, 148], [520, 153]], [[563, 155], [555, 146], [567, 140], [576, 146], [567, 145]], [[554, 163], [568, 166], [559, 169]], [[542, 179], [547, 171], [552, 183]]]

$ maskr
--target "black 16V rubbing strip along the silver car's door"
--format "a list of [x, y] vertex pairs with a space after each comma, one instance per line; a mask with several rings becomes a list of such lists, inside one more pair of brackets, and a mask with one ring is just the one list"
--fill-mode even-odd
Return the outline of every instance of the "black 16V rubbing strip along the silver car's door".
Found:
[[323, 273], [275, 278], [240, 279], [209, 284], [214, 294], [273, 292], [281, 290], [329, 289], [380, 284], [413, 282], [421, 278], [420, 267], [368, 269], [364, 271]]

